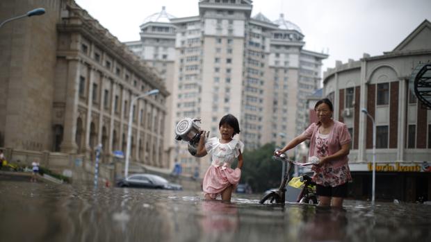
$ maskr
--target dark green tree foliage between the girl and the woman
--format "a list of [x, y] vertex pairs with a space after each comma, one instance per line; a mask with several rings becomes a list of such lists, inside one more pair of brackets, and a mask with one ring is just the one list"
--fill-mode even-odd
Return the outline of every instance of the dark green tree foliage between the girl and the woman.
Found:
[[254, 193], [279, 187], [282, 179], [282, 162], [273, 160], [274, 144], [266, 144], [257, 150], [245, 150], [240, 183], [248, 183]]

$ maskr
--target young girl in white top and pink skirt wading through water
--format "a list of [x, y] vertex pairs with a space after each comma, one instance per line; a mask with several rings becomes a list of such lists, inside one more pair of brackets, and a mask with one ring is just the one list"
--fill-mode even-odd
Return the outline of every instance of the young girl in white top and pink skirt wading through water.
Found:
[[[233, 139], [239, 134], [238, 119], [234, 115], [223, 116], [218, 124], [221, 138], [205, 139], [207, 132], [203, 131], [197, 145], [197, 156], [209, 153], [213, 162], [205, 173], [202, 189], [205, 199], [214, 200], [220, 194], [222, 201], [230, 202], [232, 191], [238, 185], [243, 167], [243, 142]], [[238, 158], [238, 167], [231, 168], [232, 162]]]

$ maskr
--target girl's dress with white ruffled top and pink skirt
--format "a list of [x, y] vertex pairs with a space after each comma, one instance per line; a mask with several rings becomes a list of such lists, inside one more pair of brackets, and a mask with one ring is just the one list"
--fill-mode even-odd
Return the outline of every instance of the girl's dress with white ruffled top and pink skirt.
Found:
[[232, 169], [231, 164], [243, 147], [243, 142], [238, 139], [232, 139], [227, 144], [221, 144], [217, 137], [206, 140], [206, 153], [211, 155], [212, 162], [202, 182], [205, 194], [214, 199], [230, 185], [234, 185], [234, 188], [238, 185], [241, 169]]

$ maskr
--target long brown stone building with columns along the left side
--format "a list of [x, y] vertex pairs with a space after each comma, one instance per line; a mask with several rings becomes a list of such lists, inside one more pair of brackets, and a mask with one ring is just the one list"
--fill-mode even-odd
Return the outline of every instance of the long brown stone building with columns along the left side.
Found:
[[2, 2], [0, 19], [38, 7], [0, 29], [0, 146], [91, 157], [102, 144], [106, 162], [126, 150], [131, 98], [159, 89], [132, 107], [131, 159], [168, 166], [161, 78], [73, 0]]

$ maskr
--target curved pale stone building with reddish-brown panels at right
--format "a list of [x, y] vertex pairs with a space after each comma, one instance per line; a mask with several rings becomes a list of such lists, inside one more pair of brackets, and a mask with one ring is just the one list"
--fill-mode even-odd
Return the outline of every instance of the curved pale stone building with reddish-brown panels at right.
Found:
[[334, 102], [334, 119], [352, 136], [352, 196], [369, 198], [375, 119], [376, 199], [431, 200], [431, 111], [409, 88], [418, 64], [431, 62], [431, 23], [423, 21], [393, 51], [348, 63], [324, 74], [323, 96]]

